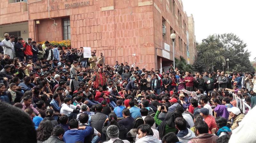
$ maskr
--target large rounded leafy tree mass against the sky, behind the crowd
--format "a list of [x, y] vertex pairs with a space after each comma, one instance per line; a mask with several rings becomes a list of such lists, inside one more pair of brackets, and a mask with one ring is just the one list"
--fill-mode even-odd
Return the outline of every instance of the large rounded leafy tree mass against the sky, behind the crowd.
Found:
[[246, 43], [233, 33], [219, 35], [210, 35], [202, 40], [196, 48], [198, 57], [194, 67], [199, 70], [206, 67], [207, 71], [228, 70], [226, 59], [229, 59], [229, 71], [245, 72], [250, 71], [251, 62], [249, 60], [250, 52], [245, 50]]

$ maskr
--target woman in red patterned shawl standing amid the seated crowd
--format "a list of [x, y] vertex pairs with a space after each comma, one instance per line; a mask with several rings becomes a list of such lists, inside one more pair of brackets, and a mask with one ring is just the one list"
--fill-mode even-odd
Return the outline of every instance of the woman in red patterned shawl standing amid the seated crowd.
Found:
[[105, 74], [102, 73], [101, 68], [98, 69], [98, 72], [93, 76], [93, 87], [98, 89], [101, 86], [103, 90], [107, 88], [107, 79]]

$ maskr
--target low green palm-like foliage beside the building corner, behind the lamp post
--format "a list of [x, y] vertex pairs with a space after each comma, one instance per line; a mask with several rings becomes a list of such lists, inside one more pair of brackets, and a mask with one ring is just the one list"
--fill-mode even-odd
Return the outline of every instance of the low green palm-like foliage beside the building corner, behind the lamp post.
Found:
[[175, 58], [175, 67], [178, 67], [180, 71], [184, 71], [184, 72], [195, 71], [195, 68], [192, 65], [188, 64], [187, 60], [182, 56], [180, 56], [180, 59]]

